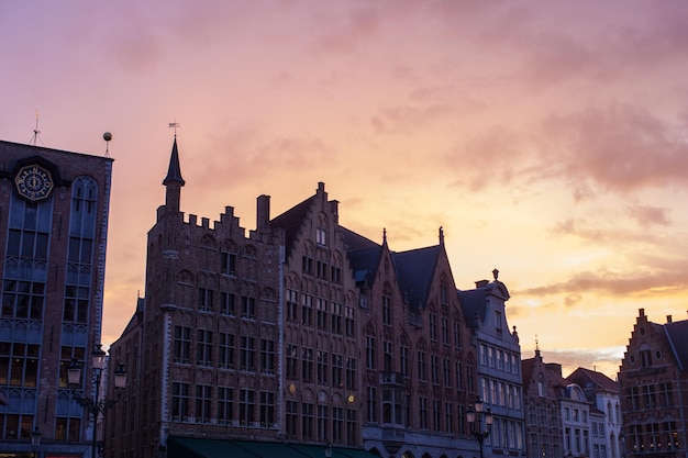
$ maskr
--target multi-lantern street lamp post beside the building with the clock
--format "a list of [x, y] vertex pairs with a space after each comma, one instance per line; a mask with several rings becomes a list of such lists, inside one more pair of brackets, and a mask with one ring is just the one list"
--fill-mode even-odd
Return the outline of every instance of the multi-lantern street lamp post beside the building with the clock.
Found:
[[124, 369], [124, 365], [121, 362], [118, 364], [118, 367], [114, 370], [114, 392], [116, 394], [116, 398], [107, 399], [106, 396], [103, 399], [100, 399], [100, 379], [102, 377], [102, 371], [106, 368], [106, 353], [102, 350], [100, 344], [96, 345], [96, 349], [91, 353], [91, 358], [93, 375], [96, 376], [96, 391], [93, 392], [92, 398], [82, 396], [81, 393], [77, 391], [79, 388], [81, 388], [81, 366], [76, 359], [71, 359], [69, 369], [67, 369], [67, 379], [74, 399], [80, 406], [82, 406], [93, 416], [91, 458], [97, 458], [98, 440], [96, 435], [96, 428], [98, 423], [98, 415], [104, 414], [108, 409], [112, 407], [120, 400], [120, 395], [122, 394], [122, 391], [126, 386], [126, 370]]

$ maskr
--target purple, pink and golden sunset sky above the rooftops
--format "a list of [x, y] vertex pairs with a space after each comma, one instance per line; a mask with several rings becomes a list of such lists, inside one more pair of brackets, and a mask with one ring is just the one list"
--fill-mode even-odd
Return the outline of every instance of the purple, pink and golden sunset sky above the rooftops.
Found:
[[615, 377], [637, 310], [688, 319], [688, 2], [0, 2], [0, 139], [114, 160], [103, 343], [144, 294], [174, 132], [181, 210], [325, 182], [393, 250], [500, 270], [522, 356]]

